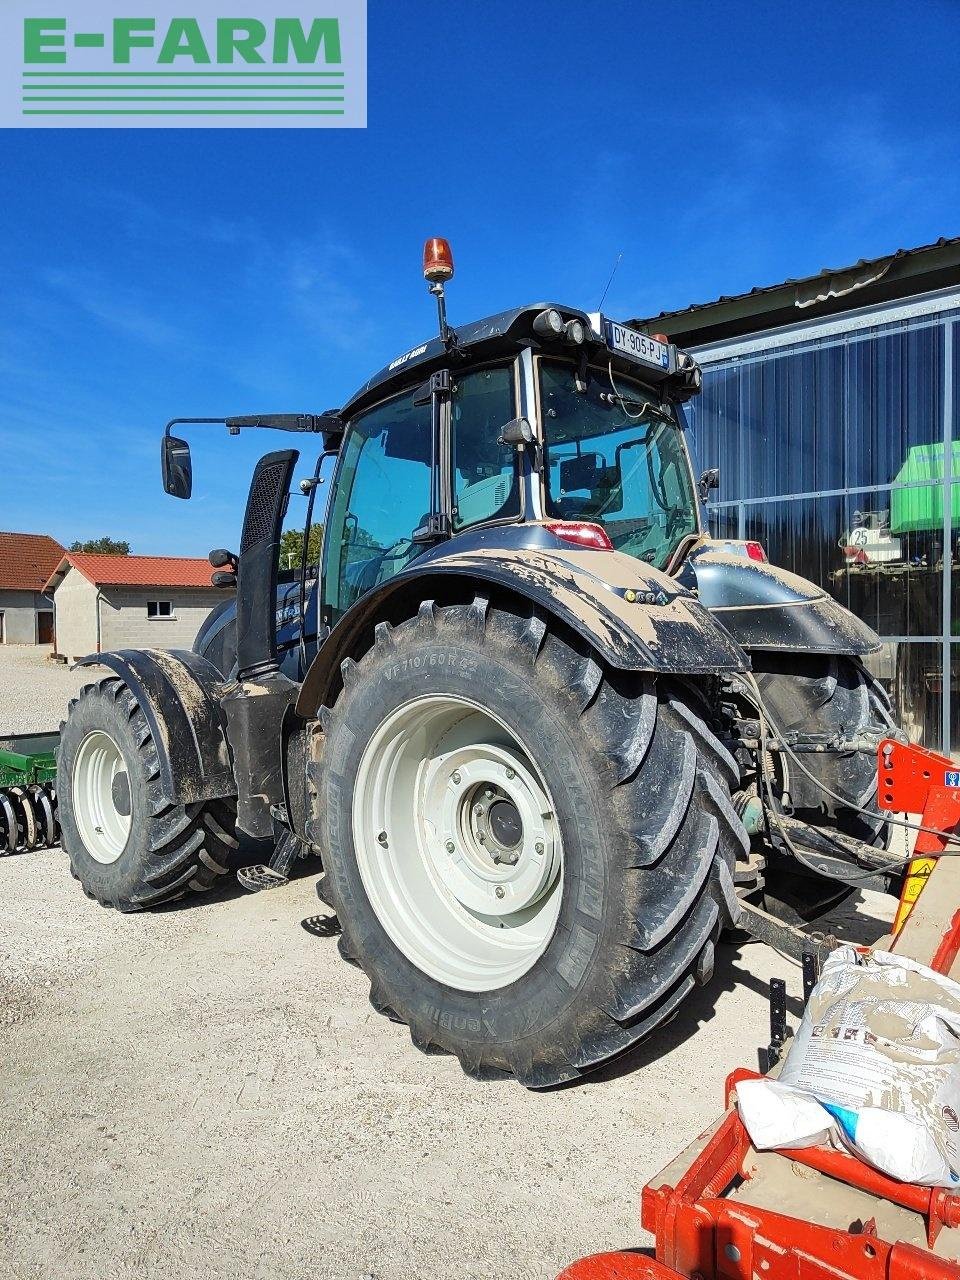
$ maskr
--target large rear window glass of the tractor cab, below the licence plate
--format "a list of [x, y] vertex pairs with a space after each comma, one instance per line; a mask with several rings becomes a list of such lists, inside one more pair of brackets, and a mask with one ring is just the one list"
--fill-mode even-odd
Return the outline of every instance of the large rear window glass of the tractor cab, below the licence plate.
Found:
[[608, 372], [577, 389], [571, 365], [540, 362], [547, 511], [603, 525], [613, 545], [664, 568], [699, 531], [692, 476], [673, 406]]

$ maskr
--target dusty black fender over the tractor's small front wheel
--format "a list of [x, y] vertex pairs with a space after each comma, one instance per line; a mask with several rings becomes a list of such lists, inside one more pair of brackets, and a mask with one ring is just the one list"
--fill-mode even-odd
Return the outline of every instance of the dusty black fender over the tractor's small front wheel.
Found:
[[237, 794], [220, 708], [220, 672], [184, 649], [92, 653], [77, 667], [108, 667], [143, 709], [160, 759], [160, 788], [170, 804]]

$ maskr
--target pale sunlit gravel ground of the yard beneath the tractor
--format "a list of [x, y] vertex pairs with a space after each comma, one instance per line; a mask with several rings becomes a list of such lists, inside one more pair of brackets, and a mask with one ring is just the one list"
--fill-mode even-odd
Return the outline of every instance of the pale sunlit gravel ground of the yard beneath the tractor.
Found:
[[[0, 726], [55, 724], [77, 677], [3, 658]], [[0, 859], [0, 1277], [549, 1280], [646, 1243], [640, 1188], [755, 1062], [771, 977], [799, 1012], [792, 964], [724, 945], [626, 1061], [549, 1093], [477, 1083], [300, 927], [314, 882], [123, 916], [59, 850]], [[873, 941], [891, 906], [833, 927]]]

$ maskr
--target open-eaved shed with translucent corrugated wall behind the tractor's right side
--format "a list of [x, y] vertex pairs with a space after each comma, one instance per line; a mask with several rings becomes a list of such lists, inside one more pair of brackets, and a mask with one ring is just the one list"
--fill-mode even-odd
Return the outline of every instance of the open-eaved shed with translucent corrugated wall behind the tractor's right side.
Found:
[[869, 622], [904, 727], [960, 751], [960, 237], [632, 323], [703, 366], [712, 531]]

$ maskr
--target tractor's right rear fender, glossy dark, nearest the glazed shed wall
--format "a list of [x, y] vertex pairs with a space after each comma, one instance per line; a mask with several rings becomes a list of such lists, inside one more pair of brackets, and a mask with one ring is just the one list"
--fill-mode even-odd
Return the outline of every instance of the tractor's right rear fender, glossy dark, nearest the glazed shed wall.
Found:
[[864, 657], [879, 636], [822, 588], [788, 570], [714, 548], [689, 561], [701, 603], [744, 649]]

